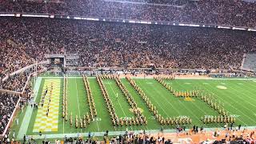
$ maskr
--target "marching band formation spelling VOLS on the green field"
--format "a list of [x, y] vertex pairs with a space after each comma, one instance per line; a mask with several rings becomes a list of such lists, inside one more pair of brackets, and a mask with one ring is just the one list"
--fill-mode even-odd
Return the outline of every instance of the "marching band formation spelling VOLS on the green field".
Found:
[[[100, 86], [100, 89], [102, 91], [102, 96], [106, 102], [107, 110], [110, 114], [110, 119], [112, 121], [113, 126], [142, 126], [147, 124], [146, 117], [142, 114], [140, 110], [138, 110], [138, 105], [134, 101], [134, 98], [129, 93], [128, 90], [126, 90], [126, 87], [122, 84], [120, 78], [118, 78], [117, 75], [111, 74], [111, 75], [97, 75], [96, 76], [98, 84]], [[129, 103], [131, 110], [133, 110], [135, 118], [118, 118], [118, 115], [116, 114], [114, 110], [113, 102], [110, 100], [110, 96], [107, 93], [106, 87], [103, 85], [102, 79], [113, 79], [120, 90], [122, 90], [122, 94], [126, 97], [126, 101]], [[150, 110], [152, 114], [154, 114], [154, 118], [161, 124], [161, 125], [186, 125], [191, 124], [192, 120], [190, 117], [183, 116], [183, 117], [173, 117], [173, 118], [163, 118], [161, 114], [158, 114], [158, 110], [156, 106], [153, 105], [152, 102], [150, 102], [150, 98], [146, 96], [144, 91], [137, 86], [135, 81], [129, 77], [126, 77], [127, 81], [130, 82], [130, 85], [134, 87], [134, 89], [138, 92], [139, 96], [142, 98], [142, 100], [146, 103], [146, 106]], [[190, 92], [186, 91], [178, 91], [174, 90], [172, 86], [167, 85], [166, 82], [164, 82], [164, 79], [174, 79], [174, 77], [154, 77], [155, 80], [157, 80], [162, 86], [164, 86], [167, 90], [170, 91], [170, 93], [174, 94], [175, 97], [182, 97], [182, 98], [199, 98], [202, 100], [202, 102], [206, 102], [208, 106], [210, 106], [212, 109], [218, 112], [218, 116], [204, 116], [201, 118], [202, 122], [204, 124], [210, 124], [210, 123], [234, 123], [235, 118], [232, 116], [228, 116], [228, 112], [224, 109], [223, 104], [220, 102], [217, 102], [214, 100], [214, 98], [210, 94], [203, 94], [203, 90], [190, 90]], [[88, 78], [86, 76], [83, 76], [83, 82], [86, 87], [87, 91], [87, 99], [90, 106], [90, 114], [83, 115], [82, 118], [78, 118], [78, 115], [75, 115], [75, 127], [78, 128], [86, 128], [86, 126], [90, 125], [90, 122], [93, 121], [95, 117], [97, 117], [97, 111], [95, 108], [94, 98], [92, 97], [91, 90], [90, 90], [90, 83], [88, 81]], [[53, 86], [51, 84], [50, 93], [53, 89]], [[48, 89], [46, 88], [45, 95], [47, 94]], [[64, 77], [64, 90], [63, 90], [63, 112], [62, 112], [62, 118], [65, 119], [67, 122], [68, 117], [68, 108], [67, 108], [67, 78]], [[118, 98], [118, 97], [117, 97]], [[43, 99], [42, 99], [43, 101]], [[49, 113], [49, 103], [48, 102], [48, 113]], [[42, 102], [43, 106], [43, 102]], [[73, 114], [70, 114], [70, 126], [73, 126]]]

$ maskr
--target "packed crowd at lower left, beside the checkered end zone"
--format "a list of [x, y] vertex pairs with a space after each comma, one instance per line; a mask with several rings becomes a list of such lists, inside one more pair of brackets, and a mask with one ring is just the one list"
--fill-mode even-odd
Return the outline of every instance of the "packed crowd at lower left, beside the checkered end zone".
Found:
[[17, 102], [18, 96], [0, 93], [0, 134], [6, 129]]

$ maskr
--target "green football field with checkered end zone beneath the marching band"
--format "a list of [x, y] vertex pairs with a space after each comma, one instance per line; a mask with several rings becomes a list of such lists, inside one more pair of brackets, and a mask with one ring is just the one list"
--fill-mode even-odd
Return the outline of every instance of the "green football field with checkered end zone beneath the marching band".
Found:
[[[146, 126], [112, 126], [110, 120], [110, 114], [106, 108], [106, 102], [103, 99], [102, 91], [95, 77], [90, 77], [90, 90], [92, 92], [97, 117], [93, 122], [90, 122], [86, 128], [76, 129], [74, 124], [70, 126], [70, 116], [68, 121], [65, 122], [62, 118], [62, 99], [63, 99], [63, 78], [61, 77], [41, 77], [38, 78], [41, 81], [38, 82], [38, 91], [35, 102], [40, 102], [44, 88], [46, 85], [54, 85], [57, 82], [60, 86], [54, 87], [54, 94], [58, 94], [57, 98], [59, 102], [53, 118], [57, 118], [57, 124], [54, 124], [54, 119], [47, 122], [42, 120], [39, 110], [42, 109], [38, 106], [38, 109], [30, 109], [27, 106], [25, 112], [19, 115], [20, 124], [14, 129], [18, 131], [18, 135], [21, 138], [23, 134], [37, 135], [36, 124], [41, 124], [46, 127], [57, 125], [56, 130], [46, 130], [43, 134], [78, 134], [88, 132], [104, 132], [109, 131], [125, 131], [125, 130], [165, 130], [175, 129], [176, 126], [161, 126], [154, 115], [147, 108], [146, 103], [139, 96], [138, 92], [130, 85], [130, 82], [126, 78], [122, 78], [121, 81], [126, 87], [126, 90], [137, 102], [138, 107], [142, 109], [142, 114], [146, 116]], [[203, 126], [203, 127], [222, 127], [223, 124], [203, 124], [200, 120], [205, 115], [218, 116], [218, 113], [210, 108], [205, 102], [202, 102], [199, 98], [193, 98], [192, 101], [185, 101], [184, 98], [176, 98], [170, 93], [164, 86], [158, 83], [153, 78], [133, 78], [137, 85], [145, 92], [146, 96], [150, 98], [150, 101], [156, 106], [158, 113], [164, 118], [173, 117], [190, 117], [192, 124], [186, 125], [187, 128], [191, 126]], [[48, 82], [48, 83], [47, 83]], [[114, 79], [102, 80], [106, 90], [110, 96], [111, 102], [113, 102], [114, 110], [116, 111], [118, 118], [132, 118], [135, 117], [130, 105], [126, 101], [122, 90], [118, 87]], [[194, 90], [194, 87], [200, 87], [206, 94], [213, 95], [216, 101], [223, 103], [224, 108], [230, 115], [236, 117], [235, 125], [241, 124], [242, 126], [256, 126], [256, 80], [255, 79], [235, 79], [235, 78], [223, 78], [223, 79], [175, 79], [165, 80], [168, 85], [173, 86], [175, 90]], [[49, 84], [50, 83], [50, 84]], [[36, 87], [35, 86], [35, 87]], [[75, 116], [78, 119], [83, 118], [84, 115], [89, 113], [89, 103], [87, 101], [86, 88], [82, 77], [69, 77], [67, 78], [67, 103], [68, 114], [72, 113], [73, 123], [75, 122]], [[118, 98], [117, 98], [118, 95]], [[52, 103], [50, 103], [53, 105]], [[25, 114], [24, 114], [25, 113]], [[56, 115], [57, 114], [57, 115]], [[57, 116], [57, 117], [56, 117]], [[49, 118], [49, 117], [48, 117]], [[51, 116], [50, 116], [51, 118]], [[52, 122], [53, 123], [52, 123]], [[26, 127], [27, 125], [27, 127]], [[38, 128], [39, 130], [39, 128]]]

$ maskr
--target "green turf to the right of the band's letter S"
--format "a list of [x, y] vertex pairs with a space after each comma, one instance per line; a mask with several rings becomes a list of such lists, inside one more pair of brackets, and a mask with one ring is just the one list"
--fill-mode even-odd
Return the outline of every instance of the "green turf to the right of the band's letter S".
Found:
[[[175, 80], [174, 89], [191, 90], [193, 86], [199, 86], [206, 93], [213, 94], [214, 98], [224, 104], [230, 114], [237, 117], [237, 122], [243, 126], [255, 126], [256, 121], [256, 81], [253, 80]], [[219, 89], [218, 86], [225, 86], [226, 89]]]

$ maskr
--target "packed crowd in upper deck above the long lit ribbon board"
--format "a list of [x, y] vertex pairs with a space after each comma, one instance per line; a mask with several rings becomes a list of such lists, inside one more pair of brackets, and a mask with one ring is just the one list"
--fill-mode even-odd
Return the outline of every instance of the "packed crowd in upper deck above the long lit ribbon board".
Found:
[[[160, 4], [160, 5], [154, 5]], [[0, 1], [1, 12], [82, 15], [255, 27], [256, 3], [242, 0]]]

